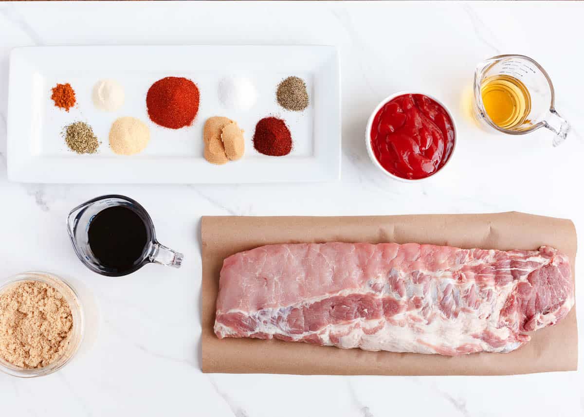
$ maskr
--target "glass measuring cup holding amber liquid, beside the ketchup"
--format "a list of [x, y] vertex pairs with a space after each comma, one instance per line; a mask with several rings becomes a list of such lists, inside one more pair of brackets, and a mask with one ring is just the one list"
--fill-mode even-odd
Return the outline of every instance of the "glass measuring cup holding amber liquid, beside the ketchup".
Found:
[[498, 55], [475, 71], [474, 114], [496, 130], [521, 135], [545, 127], [561, 144], [570, 130], [554, 108], [554, 86], [536, 61], [524, 55]]

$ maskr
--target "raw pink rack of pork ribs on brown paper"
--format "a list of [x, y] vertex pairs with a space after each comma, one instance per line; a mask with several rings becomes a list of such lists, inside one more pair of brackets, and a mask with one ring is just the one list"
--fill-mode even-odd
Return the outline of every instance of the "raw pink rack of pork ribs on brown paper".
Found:
[[267, 245], [225, 259], [214, 331], [345, 349], [510, 352], [573, 303], [568, 258], [545, 246]]

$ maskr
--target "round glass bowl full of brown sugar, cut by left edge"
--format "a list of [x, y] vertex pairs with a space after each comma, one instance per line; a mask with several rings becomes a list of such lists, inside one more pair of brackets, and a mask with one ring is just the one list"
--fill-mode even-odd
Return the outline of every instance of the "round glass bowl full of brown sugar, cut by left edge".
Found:
[[75, 290], [46, 272], [17, 274], [0, 286], [0, 371], [51, 374], [77, 353], [84, 312]]

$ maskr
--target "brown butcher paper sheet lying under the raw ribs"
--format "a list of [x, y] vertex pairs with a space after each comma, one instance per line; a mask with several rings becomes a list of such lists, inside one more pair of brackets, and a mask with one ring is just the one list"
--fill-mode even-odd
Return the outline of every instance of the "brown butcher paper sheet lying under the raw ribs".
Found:
[[332, 375], [503, 375], [576, 370], [576, 310], [555, 326], [531, 333], [510, 353], [458, 357], [365, 352], [308, 343], [218, 339], [213, 332], [219, 273], [227, 256], [256, 246], [297, 242], [397, 242], [459, 248], [537, 249], [550, 245], [576, 256], [571, 221], [523, 213], [373, 217], [203, 217], [203, 372]]

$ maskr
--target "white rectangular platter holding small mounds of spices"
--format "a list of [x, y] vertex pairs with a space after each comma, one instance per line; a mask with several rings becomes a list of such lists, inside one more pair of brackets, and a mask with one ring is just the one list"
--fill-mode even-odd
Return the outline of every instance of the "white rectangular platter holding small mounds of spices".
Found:
[[[307, 84], [309, 105], [291, 112], [276, 101], [279, 82], [290, 76]], [[146, 93], [158, 79], [191, 79], [200, 91], [192, 126], [178, 130], [148, 118]], [[224, 77], [246, 77], [258, 100], [249, 110], [227, 109], [218, 95]], [[126, 99], [116, 112], [93, 106], [93, 85], [116, 79]], [[77, 105], [69, 112], [51, 100], [51, 88], [68, 82]], [[37, 183], [264, 183], [333, 181], [340, 174], [339, 55], [332, 46], [79, 46], [24, 47], [11, 52], [8, 98], [8, 178]], [[118, 117], [150, 127], [148, 147], [116, 155], [109, 130]], [[203, 157], [208, 117], [226, 116], [244, 129], [245, 156], [217, 166]], [[252, 143], [256, 123], [267, 116], [286, 121], [293, 150], [284, 157], [259, 154]], [[101, 141], [99, 151], [68, 150], [62, 129], [85, 121]]]

